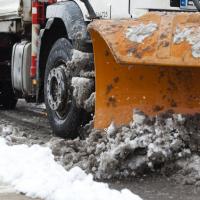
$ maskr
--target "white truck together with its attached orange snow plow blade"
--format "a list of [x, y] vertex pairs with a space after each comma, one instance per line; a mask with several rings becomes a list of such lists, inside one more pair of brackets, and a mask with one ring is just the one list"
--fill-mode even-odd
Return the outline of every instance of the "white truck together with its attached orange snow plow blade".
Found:
[[[198, 0], [0, 0], [0, 105], [45, 102], [58, 136], [133, 109], [200, 111]], [[183, 12], [184, 11], [184, 12]], [[94, 59], [93, 59], [94, 57]]]

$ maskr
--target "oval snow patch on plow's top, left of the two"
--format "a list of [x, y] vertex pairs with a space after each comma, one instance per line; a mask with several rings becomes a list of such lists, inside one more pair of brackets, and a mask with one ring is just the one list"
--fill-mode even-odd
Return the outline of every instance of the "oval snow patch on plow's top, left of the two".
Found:
[[139, 24], [138, 26], [131, 26], [127, 29], [126, 37], [137, 43], [142, 43], [145, 38], [151, 36], [158, 29], [155, 23]]

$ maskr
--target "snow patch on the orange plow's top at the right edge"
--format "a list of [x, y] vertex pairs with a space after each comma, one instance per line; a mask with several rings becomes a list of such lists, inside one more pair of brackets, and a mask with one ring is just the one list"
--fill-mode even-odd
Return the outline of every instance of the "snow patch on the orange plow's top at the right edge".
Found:
[[183, 28], [177, 27], [174, 35], [174, 43], [180, 44], [187, 41], [192, 45], [192, 55], [194, 58], [200, 58], [200, 28]]

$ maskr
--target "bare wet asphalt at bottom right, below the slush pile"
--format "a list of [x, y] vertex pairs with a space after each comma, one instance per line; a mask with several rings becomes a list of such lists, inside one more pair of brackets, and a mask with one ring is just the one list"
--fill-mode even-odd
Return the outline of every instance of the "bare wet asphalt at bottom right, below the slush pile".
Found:
[[144, 200], [199, 200], [200, 188], [181, 185], [167, 177], [154, 175], [144, 179], [135, 179], [110, 183], [115, 189], [128, 188]]

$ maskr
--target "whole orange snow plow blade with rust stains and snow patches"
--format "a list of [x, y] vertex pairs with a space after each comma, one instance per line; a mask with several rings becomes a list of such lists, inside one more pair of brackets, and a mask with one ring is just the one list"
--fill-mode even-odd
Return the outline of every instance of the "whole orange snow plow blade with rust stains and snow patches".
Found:
[[200, 14], [149, 13], [89, 25], [96, 68], [95, 127], [148, 115], [200, 112]]

